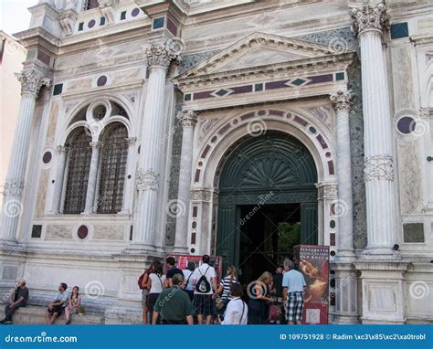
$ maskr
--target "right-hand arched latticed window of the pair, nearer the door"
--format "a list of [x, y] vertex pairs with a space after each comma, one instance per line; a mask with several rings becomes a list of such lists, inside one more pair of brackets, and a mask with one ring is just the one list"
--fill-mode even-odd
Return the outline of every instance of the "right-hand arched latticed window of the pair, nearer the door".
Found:
[[97, 212], [121, 211], [126, 161], [128, 157], [128, 131], [116, 122], [102, 135], [100, 147], [100, 185]]

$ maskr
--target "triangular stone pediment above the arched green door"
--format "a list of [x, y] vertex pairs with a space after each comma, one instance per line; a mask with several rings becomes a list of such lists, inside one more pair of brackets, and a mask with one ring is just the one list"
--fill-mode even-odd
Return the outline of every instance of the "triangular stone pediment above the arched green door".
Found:
[[253, 33], [215, 56], [186, 70], [177, 79], [194, 78], [209, 74], [224, 74], [238, 70], [254, 70], [290, 62], [328, 58], [352, 52], [310, 41]]

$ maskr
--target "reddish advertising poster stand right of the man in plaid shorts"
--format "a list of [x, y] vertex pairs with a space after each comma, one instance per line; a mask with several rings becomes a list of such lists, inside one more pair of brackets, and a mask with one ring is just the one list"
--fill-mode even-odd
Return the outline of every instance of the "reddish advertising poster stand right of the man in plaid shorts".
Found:
[[329, 314], [329, 246], [297, 245], [294, 262], [307, 283], [302, 323], [327, 324]]

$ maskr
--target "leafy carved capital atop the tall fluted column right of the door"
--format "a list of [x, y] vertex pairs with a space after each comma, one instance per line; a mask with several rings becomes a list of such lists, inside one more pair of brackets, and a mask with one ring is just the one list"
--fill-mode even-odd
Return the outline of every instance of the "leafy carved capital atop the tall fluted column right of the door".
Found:
[[386, 14], [386, 6], [383, 3], [376, 5], [364, 4], [361, 8], [353, 8], [350, 15], [354, 20], [351, 29], [354, 35], [358, 36], [368, 30], [382, 32], [389, 19]]

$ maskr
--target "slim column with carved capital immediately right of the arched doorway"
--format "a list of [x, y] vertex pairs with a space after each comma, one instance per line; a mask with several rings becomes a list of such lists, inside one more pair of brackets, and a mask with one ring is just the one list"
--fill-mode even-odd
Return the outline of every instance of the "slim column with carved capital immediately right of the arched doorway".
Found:
[[350, 92], [337, 91], [331, 96], [337, 113], [337, 185], [338, 205], [342, 206], [338, 216], [338, 259], [354, 257], [354, 203], [352, 197], [352, 168], [349, 111]]

